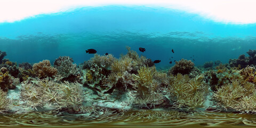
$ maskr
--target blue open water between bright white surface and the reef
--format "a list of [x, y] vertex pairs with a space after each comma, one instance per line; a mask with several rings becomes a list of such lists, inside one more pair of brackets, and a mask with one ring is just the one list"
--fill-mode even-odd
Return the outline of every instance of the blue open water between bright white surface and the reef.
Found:
[[[53, 62], [68, 55], [76, 63], [93, 57], [95, 49], [119, 58], [125, 46], [170, 67], [171, 60], [205, 61], [238, 58], [256, 48], [256, 25], [213, 22], [196, 14], [143, 6], [83, 7], [67, 12], [36, 15], [0, 23], [0, 50], [14, 62]], [[146, 52], [139, 52], [145, 47]], [[175, 53], [172, 53], [171, 50]], [[194, 55], [194, 57], [193, 57]], [[247, 55], [247, 54], [246, 54]]]

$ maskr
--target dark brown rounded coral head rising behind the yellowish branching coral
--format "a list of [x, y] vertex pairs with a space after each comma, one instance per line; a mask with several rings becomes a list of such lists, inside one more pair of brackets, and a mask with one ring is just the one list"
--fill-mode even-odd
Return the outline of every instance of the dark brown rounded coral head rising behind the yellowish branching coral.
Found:
[[194, 66], [195, 64], [191, 62], [191, 60], [181, 59], [180, 61], [175, 62], [175, 65], [171, 68], [170, 72], [173, 75], [177, 75], [178, 73], [185, 75], [189, 74]]

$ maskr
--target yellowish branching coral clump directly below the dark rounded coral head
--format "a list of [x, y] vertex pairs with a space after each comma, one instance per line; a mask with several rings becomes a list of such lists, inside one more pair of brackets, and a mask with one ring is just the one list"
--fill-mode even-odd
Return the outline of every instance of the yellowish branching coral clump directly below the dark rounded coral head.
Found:
[[174, 102], [174, 108], [196, 109], [204, 107], [209, 86], [203, 81], [204, 75], [199, 74], [195, 78], [188, 75], [177, 74], [171, 76], [167, 92]]

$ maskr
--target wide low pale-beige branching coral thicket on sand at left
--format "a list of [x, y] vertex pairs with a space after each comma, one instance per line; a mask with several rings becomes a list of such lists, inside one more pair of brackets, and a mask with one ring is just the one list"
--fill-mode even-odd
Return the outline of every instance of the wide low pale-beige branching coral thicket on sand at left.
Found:
[[83, 89], [79, 83], [57, 83], [41, 79], [21, 86], [21, 98], [32, 108], [51, 106], [55, 109], [77, 109], [82, 106]]

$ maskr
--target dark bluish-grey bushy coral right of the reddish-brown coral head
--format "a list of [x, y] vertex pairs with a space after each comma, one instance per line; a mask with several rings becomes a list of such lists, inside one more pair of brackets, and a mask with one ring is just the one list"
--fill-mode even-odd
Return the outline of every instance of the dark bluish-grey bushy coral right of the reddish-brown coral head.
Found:
[[63, 78], [62, 80], [68, 80], [74, 82], [78, 76], [78, 69], [76, 64], [73, 64], [73, 59], [67, 56], [59, 57], [54, 61], [54, 67], [57, 68], [58, 74]]

